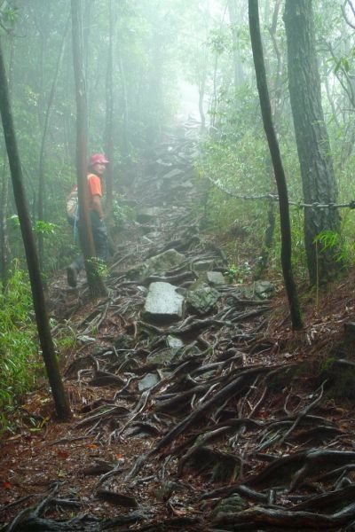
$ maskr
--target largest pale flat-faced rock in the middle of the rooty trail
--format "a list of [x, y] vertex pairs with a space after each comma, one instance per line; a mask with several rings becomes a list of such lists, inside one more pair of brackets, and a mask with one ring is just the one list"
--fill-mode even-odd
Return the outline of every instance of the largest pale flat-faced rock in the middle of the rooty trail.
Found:
[[146, 296], [143, 316], [148, 321], [170, 323], [183, 316], [184, 297], [170, 283], [152, 283]]

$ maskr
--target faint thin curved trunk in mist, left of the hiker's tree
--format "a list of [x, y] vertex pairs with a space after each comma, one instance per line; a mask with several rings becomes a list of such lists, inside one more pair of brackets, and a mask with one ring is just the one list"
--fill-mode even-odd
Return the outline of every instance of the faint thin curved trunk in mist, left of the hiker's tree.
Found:
[[[66, 27], [65, 27], [65, 30], [64, 30], [64, 34], [63, 34], [63, 38], [62, 38], [62, 42], [61, 42], [61, 45], [60, 45], [60, 51], [59, 51], [59, 56], [58, 56], [58, 59], [57, 59], [57, 65], [56, 65], [56, 69], [55, 69], [55, 72], [54, 72], [54, 76], [53, 76], [53, 81], [51, 83], [51, 91], [50, 91], [50, 95], [48, 97], [48, 102], [47, 102], [47, 108], [46, 108], [46, 111], [45, 111], [45, 115], [44, 115], [44, 121], [43, 121], [43, 133], [42, 133], [42, 140], [41, 140], [41, 149], [40, 149], [40, 154], [39, 154], [39, 168], [38, 168], [38, 220], [44, 220], [45, 216], [44, 216], [44, 209], [43, 209], [43, 199], [46, 197], [46, 194], [45, 194], [45, 179], [44, 179], [44, 150], [45, 150], [45, 141], [47, 139], [47, 133], [48, 133], [48, 124], [49, 124], [49, 121], [50, 121], [50, 116], [51, 116], [51, 106], [53, 104], [53, 99], [54, 99], [54, 94], [55, 94], [55, 90], [56, 90], [56, 87], [57, 87], [57, 82], [58, 82], [58, 75], [59, 75], [59, 68], [60, 68], [60, 65], [61, 65], [61, 62], [62, 62], [62, 59], [63, 59], [63, 53], [64, 53], [64, 48], [65, 48], [65, 43], [66, 43], [66, 35], [67, 35], [67, 29], [69, 27], [69, 21], [70, 19], [67, 20], [67, 24], [66, 24]], [[40, 264], [40, 268], [41, 268], [41, 271], [43, 271], [43, 259], [44, 259], [44, 244], [43, 244], [43, 233], [42, 232], [39, 232], [38, 233], [38, 255], [39, 255], [39, 264]]]

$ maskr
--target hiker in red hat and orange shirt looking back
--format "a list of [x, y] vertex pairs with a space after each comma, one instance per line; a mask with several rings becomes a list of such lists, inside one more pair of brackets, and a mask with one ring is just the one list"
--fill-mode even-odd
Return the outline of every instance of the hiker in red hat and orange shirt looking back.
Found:
[[[89, 185], [89, 210], [91, 219], [91, 231], [95, 245], [96, 256], [101, 261], [106, 262], [108, 258], [107, 230], [104, 221], [104, 211], [102, 208], [102, 187], [101, 178], [105, 172], [108, 160], [103, 153], [94, 153], [91, 155], [88, 168], [88, 185]], [[77, 223], [77, 215], [75, 224]], [[80, 270], [83, 269], [83, 255], [75, 259], [67, 267], [67, 284], [73, 288], [76, 286], [77, 277]]]

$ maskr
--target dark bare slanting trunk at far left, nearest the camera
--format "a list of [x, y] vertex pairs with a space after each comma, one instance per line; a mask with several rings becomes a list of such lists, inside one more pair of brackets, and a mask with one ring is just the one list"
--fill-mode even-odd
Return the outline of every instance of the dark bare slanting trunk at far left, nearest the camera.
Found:
[[22, 169], [17, 147], [15, 129], [12, 121], [9, 90], [4, 68], [4, 59], [0, 43], [0, 113], [3, 121], [5, 144], [12, 175], [13, 193], [20, 218], [20, 229], [28, 262], [28, 273], [34, 301], [38, 336], [41, 343], [44, 364], [51, 384], [55, 408], [59, 419], [69, 419], [70, 406], [59, 372], [58, 359], [51, 338], [51, 329], [45, 308], [43, 284], [36, 254], [35, 239], [25, 199]]

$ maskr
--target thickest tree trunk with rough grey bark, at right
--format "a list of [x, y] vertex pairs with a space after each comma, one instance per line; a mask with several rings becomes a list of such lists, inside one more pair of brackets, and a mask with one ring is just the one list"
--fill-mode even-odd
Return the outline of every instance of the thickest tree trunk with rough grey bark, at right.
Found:
[[[333, 160], [321, 106], [312, 0], [286, 0], [288, 86], [301, 167], [304, 201], [332, 204], [337, 200]], [[321, 231], [339, 232], [335, 208], [305, 208], [304, 241], [312, 285], [326, 282], [339, 270], [335, 247], [315, 243]], [[320, 253], [319, 253], [320, 251]]]

